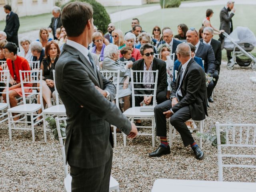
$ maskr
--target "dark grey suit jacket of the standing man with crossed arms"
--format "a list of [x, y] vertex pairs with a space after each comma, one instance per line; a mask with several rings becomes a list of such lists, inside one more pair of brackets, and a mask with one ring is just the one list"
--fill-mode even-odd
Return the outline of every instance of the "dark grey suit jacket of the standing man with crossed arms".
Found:
[[[93, 63], [90, 53], [88, 56]], [[107, 90], [112, 100], [116, 88], [80, 51], [67, 44], [55, 70], [56, 88], [67, 114], [66, 160], [70, 166], [80, 168], [102, 166], [112, 153], [110, 123], [125, 134], [131, 130], [130, 121], [95, 86]]]

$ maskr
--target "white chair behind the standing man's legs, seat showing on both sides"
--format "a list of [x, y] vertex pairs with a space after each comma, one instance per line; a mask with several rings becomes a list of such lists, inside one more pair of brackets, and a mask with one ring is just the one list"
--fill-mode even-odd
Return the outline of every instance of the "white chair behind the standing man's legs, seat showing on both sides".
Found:
[[[60, 121], [63, 121], [63, 123], [60, 124]], [[64, 118], [56, 117], [55, 122], [56, 122], [56, 128], [58, 132], [59, 145], [61, 149], [62, 163], [64, 168], [64, 191], [71, 192], [72, 177], [68, 173], [68, 165], [66, 164], [65, 145], [63, 142], [63, 140], [66, 139], [66, 134], [62, 134], [62, 133], [65, 133], [65, 128], [63, 127], [66, 127], [66, 117]], [[110, 191], [115, 190], [115, 192], [119, 192], [119, 184], [112, 176], [110, 176], [109, 190]]]

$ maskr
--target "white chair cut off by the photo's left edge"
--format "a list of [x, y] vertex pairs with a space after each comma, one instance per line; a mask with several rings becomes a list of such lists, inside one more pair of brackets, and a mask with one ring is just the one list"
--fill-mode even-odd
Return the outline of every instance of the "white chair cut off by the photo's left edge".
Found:
[[[9, 81], [10, 81], [10, 71], [9, 70], [3, 70], [0, 71], [0, 94], [6, 94], [6, 103], [0, 102], [0, 123], [8, 120], [8, 114], [7, 112], [4, 112], [4, 110], [7, 108], [10, 108], [10, 102], [9, 102]], [[6, 89], [6, 92], [3, 92], [3, 90]]]

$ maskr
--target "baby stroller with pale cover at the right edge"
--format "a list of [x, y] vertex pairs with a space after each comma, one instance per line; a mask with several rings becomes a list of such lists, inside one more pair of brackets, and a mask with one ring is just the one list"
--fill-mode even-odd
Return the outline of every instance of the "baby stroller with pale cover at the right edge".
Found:
[[227, 68], [234, 69], [234, 65], [247, 67], [251, 66], [252, 70], [256, 70], [256, 58], [250, 53], [256, 46], [256, 38], [253, 32], [247, 27], [237, 27], [230, 35], [226, 32], [224, 48], [232, 51], [232, 59], [229, 60]]

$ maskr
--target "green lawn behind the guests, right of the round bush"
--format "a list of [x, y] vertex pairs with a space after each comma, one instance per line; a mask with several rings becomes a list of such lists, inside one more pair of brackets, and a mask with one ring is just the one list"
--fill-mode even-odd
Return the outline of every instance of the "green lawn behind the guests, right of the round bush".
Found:
[[[220, 26], [219, 13], [223, 8], [222, 5], [219, 6], [210, 6], [210, 7], [193, 7], [193, 8], [168, 8], [164, 10], [157, 10], [154, 12], [146, 13], [137, 18], [140, 20], [140, 24], [144, 31], [152, 33], [154, 26], [158, 25], [162, 28], [163, 26], [169, 26], [174, 34], [177, 34], [178, 24], [184, 23], [190, 27], [195, 27], [199, 29], [202, 26], [202, 20], [205, 18], [206, 9], [211, 8], [214, 11], [214, 15], [211, 18], [211, 24], [215, 28]], [[234, 28], [236, 26], [244, 26], [250, 28], [254, 34], [256, 34], [256, 17], [254, 10], [256, 5], [236, 5], [236, 13], [233, 17]], [[162, 19], [162, 14], [164, 12], [164, 19]], [[118, 22], [115, 23], [118, 26]], [[127, 32], [130, 30], [131, 19], [123, 20], [121, 23], [121, 30]], [[214, 36], [215, 39], [218, 39], [218, 36]], [[253, 54], [256, 54], [256, 49], [252, 51]], [[222, 51], [222, 58], [226, 60], [226, 51]]]

